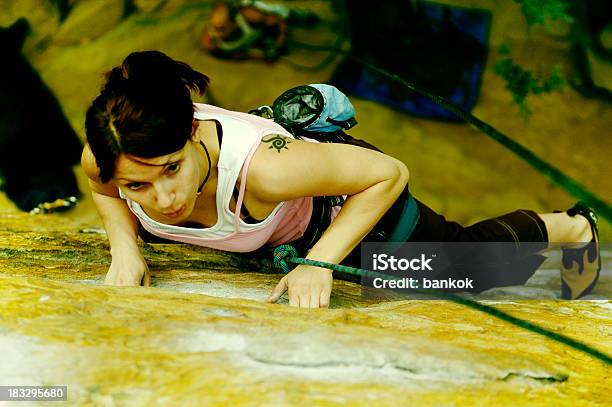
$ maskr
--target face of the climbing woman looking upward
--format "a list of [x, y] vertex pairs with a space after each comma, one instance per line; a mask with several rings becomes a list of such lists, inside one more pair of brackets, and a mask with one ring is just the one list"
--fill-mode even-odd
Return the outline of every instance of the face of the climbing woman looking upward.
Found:
[[193, 212], [197, 190], [207, 170], [202, 168], [206, 164], [202, 163], [197, 146], [192, 138], [181, 150], [160, 157], [121, 154], [113, 183], [155, 220], [179, 223]]

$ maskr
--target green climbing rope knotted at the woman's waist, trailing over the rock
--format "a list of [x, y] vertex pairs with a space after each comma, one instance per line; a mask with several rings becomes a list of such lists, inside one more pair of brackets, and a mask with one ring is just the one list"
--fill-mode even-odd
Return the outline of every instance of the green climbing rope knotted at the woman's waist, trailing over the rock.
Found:
[[[388, 274], [377, 273], [370, 270], [343, 266], [341, 264], [327, 263], [318, 260], [310, 260], [304, 259], [302, 257], [298, 257], [297, 250], [291, 245], [280, 245], [274, 250], [274, 265], [280, 269], [282, 269], [285, 273], [291, 271], [291, 266], [288, 263], [294, 264], [305, 264], [309, 266], [323, 267], [329, 270], [339, 271], [342, 273], [354, 275], [361, 278], [373, 278], [373, 277], [383, 277], [385, 279], [397, 279], [396, 276], [391, 276]], [[563, 343], [571, 348], [584, 352], [590, 356], [593, 356], [596, 359], [601, 360], [607, 365], [612, 364], [612, 357], [587, 345], [582, 342], [578, 342], [574, 339], [571, 339], [567, 336], [558, 334], [556, 332], [550, 331], [548, 329], [542, 328], [541, 326], [535, 325], [531, 322], [525, 321], [520, 318], [513, 317], [510, 314], [507, 314], [497, 308], [491, 307], [490, 305], [481, 304], [478, 301], [470, 300], [467, 298], [463, 298], [459, 295], [447, 293], [440, 290], [431, 290], [431, 289], [411, 289], [411, 291], [421, 294], [432, 295], [441, 299], [450, 300], [456, 302], [458, 304], [465, 305], [470, 308], [474, 308], [478, 311], [487, 313], [499, 319], [502, 319], [506, 322], [510, 322], [511, 324], [518, 326], [520, 328], [526, 329], [531, 332], [535, 332], [537, 334], [546, 336], [554, 341]]]

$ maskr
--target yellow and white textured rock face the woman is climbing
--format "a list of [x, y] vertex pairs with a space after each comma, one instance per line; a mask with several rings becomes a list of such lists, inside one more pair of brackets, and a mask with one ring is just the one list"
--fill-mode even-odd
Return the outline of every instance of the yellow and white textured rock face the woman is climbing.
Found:
[[[154, 286], [102, 286], [95, 224], [5, 212], [0, 384], [66, 384], [71, 405], [604, 403], [609, 369], [445, 301], [376, 303], [336, 281], [330, 310], [262, 300], [269, 261], [147, 245]], [[286, 304], [286, 300], [284, 301]], [[608, 301], [492, 301], [612, 352]]]

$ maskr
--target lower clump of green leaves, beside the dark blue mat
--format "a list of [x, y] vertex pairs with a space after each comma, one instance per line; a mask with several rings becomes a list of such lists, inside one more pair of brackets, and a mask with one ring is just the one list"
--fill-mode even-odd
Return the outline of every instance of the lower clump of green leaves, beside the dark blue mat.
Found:
[[518, 105], [524, 119], [527, 119], [532, 113], [527, 103], [527, 96], [530, 93], [540, 95], [563, 88], [564, 81], [559, 65], [555, 65], [551, 74], [546, 77], [539, 71], [533, 73], [515, 64], [510, 56], [510, 46], [507, 43], [502, 43], [499, 53], [503, 58], [495, 63], [493, 70], [506, 80], [506, 89], [512, 93], [512, 101]]

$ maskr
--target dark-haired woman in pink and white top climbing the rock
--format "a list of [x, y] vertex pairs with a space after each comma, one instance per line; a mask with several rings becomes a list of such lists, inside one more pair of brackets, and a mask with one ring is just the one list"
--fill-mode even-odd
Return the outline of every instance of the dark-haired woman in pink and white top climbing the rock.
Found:
[[[161, 52], [135, 52], [87, 111], [81, 162], [110, 242], [105, 283], [150, 285], [140, 235], [233, 252], [290, 243], [308, 259], [356, 266], [362, 241], [539, 242], [538, 250], [583, 242], [563, 249], [562, 297], [593, 289], [601, 260], [588, 207], [518, 210], [463, 227], [408, 192], [403, 162], [360, 140], [298, 139], [272, 120], [193, 103], [191, 91], [203, 94], [208, 82]], [[267, 301], [288, 291], [292, 306], [327, 307], [331, 289], [331, 271], [299, 265]]]

